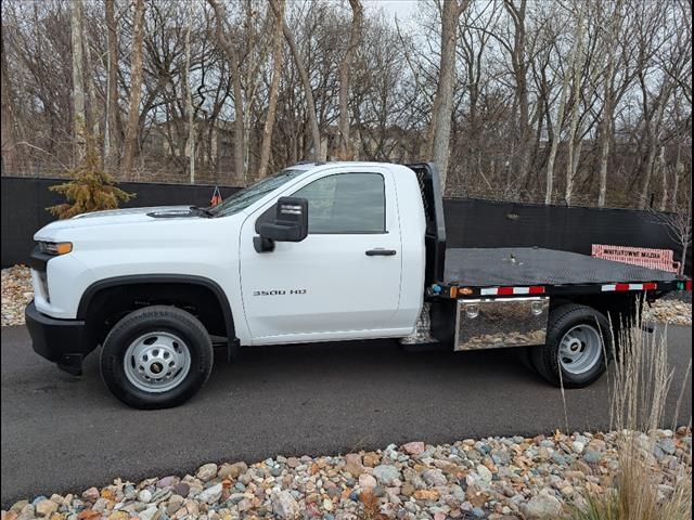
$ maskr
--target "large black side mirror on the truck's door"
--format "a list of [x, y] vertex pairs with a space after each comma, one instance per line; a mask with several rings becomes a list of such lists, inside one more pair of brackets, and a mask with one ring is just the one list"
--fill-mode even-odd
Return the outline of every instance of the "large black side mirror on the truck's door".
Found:
[[256, 251], [274, 249], [275, 242], [301, 242], [308, 235], [308, 200], [297, 197], [280, 197], [274, 222], [258, 226], [260, 236], [253, 239]]

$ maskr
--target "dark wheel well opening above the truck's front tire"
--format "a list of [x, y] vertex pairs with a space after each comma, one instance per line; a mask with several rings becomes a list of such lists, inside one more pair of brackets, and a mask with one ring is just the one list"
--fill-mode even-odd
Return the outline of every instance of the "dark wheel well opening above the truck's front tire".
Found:
[[235, 335], [229, 302], [221, 289], [210, 284], [112, 281], [92, 286], [82, 296], [77, 313], [87, 324], [87, 344], [95, 348], [123, 316], [149, 306], [182, 309], [197, 317], [208, 334], [231, 340]]

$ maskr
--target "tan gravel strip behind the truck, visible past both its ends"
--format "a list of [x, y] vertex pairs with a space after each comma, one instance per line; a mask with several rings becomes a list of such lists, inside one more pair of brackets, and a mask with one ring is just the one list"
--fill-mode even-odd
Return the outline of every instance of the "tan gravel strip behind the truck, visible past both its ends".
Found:
[[[24, 308], [31, 301], [29, 268], [15, 265], [2, 270], [2, 326], [24, 325]], [[646, 320], [692, 325], [692, 294], [670, 292], [645, 311]]]

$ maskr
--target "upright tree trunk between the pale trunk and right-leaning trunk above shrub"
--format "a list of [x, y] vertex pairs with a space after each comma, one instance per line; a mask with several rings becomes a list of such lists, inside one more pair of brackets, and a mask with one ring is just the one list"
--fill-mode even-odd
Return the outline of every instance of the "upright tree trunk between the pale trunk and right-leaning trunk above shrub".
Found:
[[114, 168], [118, 154], [118, 27], [116, 25], [115, 0], [106, 0], [106, 118], [104, 121], [104, 161]]

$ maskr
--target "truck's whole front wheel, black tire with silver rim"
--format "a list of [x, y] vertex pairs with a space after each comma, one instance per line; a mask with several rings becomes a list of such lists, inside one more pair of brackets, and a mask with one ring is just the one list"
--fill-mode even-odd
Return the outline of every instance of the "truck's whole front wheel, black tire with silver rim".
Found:
[[[126, 365], [126, 358], [127, 363]], [[207, 382], [214, 350], [204, 325], [168, 306], [131, 312], [108, 333], [101, 352], [101, 377], [128, 406], [178, 406]]]

